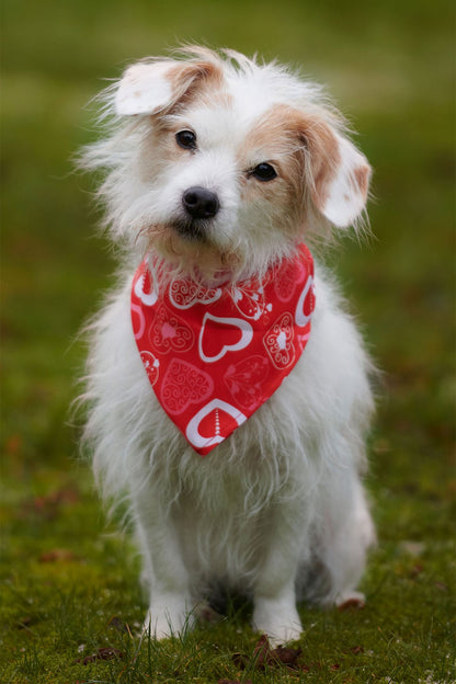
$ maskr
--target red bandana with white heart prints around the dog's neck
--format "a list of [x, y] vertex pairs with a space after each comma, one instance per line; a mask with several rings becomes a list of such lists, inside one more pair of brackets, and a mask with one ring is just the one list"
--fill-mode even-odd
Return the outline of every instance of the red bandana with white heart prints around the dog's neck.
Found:
[[256, 278], [205, 288], [163, 278], [146, 258], [132, 288], [132, 322], [158, 400], [202, 456], [275, 392], [310, 334], [314, 261], [295, 259]]

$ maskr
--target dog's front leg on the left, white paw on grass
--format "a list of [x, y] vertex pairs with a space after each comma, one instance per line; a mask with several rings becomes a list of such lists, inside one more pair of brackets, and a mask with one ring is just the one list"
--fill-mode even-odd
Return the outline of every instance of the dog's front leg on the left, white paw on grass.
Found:
[[169, 511], [152, 492], [136, 502], [137, 535], [144, 558], [144, 574], [149, 591], [145, 631], [163, 639], [182, 631], [192, 619], [193, 602], [189, 573]]

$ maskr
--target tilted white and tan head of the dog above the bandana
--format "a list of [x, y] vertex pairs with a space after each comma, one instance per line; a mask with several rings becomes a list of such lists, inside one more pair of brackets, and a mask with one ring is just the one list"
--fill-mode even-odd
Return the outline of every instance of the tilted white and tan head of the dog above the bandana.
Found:
[[109, 171], [100, 193], [113, 233], [189, 272], [262, 272], [363, 214], [365, 157], [321, 89], [275, 64], [205, 48], [141, 61], [106, 109], [115, 132], [84, 162]]

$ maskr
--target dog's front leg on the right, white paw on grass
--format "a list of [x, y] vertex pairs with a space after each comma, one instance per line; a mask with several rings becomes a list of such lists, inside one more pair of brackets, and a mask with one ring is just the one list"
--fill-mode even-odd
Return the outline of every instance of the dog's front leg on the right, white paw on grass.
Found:
[[265, 560], [253, 590], [253, 627], [265, 632], [273, 645], [298, 639], [303, 629], [295, 580], [306, 532], [303, 511], [297, 508], [296, 503], [281, 504], [271, 513]]

